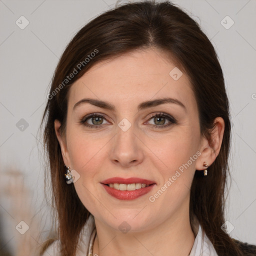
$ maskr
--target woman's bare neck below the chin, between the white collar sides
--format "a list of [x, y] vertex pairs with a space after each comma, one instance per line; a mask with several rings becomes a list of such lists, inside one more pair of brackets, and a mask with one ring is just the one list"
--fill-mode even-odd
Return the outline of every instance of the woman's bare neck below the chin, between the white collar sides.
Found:
[[[95, 219], [97, 235], [93, 254], [99, 256], [187, 256], [194, 242], [194, 232], [190, 226], [189, 214], [168, 218], [156, 227], [144, 232], [122, 233], [107, 228]], [[195, 233], [198, 230], [198, 225]]]

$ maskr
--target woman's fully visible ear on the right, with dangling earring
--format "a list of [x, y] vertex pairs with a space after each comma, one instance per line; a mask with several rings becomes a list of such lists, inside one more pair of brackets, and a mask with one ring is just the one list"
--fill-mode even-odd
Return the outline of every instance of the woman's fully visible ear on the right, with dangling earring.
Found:
[[200, 146], [200, 156], [196, 160], [195, 169], [203, 170], [203, 162], [206, 162], [208, 166], [210, 166], [214, 160], [216, 159], [224, 134], [224, 120], [221, 117], [216, 117], [214, 119], [214, 127], [210, 133], [210, 144], [209, 141], [205, 138], [201, 138], [201, 146]]

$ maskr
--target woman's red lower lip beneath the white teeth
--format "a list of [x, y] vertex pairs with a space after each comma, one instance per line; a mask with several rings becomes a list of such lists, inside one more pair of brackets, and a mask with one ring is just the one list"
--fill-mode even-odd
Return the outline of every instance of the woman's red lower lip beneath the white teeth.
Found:
[[[102, 184], [102, 183], [101, 183]], [[119, 200], [132, 200], [136, 199], [141, 195], [144, 195], [148, 193], [155, 184], [141, 187], [139, 189], [135, 190], [117, 190], [115, 188], [109, 187], [108, 185], [102, 184], [102, 186], [105, 188], [105, 190], [112, 195], [113, 197], [119, 199]]]

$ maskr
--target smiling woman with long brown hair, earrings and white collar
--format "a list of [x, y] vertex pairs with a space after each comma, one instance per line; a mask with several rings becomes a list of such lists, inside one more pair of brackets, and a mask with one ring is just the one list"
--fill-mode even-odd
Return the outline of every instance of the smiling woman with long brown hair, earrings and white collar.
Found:
[[82, 27], [56, 67], [43, 120], [59, 227], [43, 255], [245, 253], [223, 214], [222, 70], [180, 8], [129, 3]]

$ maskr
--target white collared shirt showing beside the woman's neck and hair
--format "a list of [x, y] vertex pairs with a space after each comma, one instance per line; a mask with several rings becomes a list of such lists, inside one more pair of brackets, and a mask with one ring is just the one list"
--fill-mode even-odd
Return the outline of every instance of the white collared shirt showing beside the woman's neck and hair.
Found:
[[[76, 256], [88, 255], [89, 251], [92, 249], [95, 234], [94, 217], [90, 215], [80, 232], [75, 254]], [[54, 241], [42, 256], [60, 256], [59, 247], [59, 240]], [[209, 238], [201, 229], [200, 224], [189, 256], [218, 256]]]

